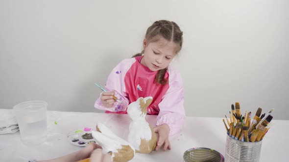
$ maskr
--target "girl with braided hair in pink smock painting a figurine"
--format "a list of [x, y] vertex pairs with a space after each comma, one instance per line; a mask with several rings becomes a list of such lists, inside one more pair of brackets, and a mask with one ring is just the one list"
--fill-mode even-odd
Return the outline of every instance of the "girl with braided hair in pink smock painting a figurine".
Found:
[[[147, 114], [158, 115], [154, 131], [159, 135], [156, 151], [170, 149], [169, 135], [180, 131], [185, 118], [184, 88], [180, 74], [169, 63], [182, 48], [183, 33], [168, 20], [148, 27], [143, 51], [121, 61], [109, 75], [105, 88], [95, 102], [106, 113], [126, 114], [129, 103], [151, 96]], [[122, 103], [115, 101], [115, 95]]]

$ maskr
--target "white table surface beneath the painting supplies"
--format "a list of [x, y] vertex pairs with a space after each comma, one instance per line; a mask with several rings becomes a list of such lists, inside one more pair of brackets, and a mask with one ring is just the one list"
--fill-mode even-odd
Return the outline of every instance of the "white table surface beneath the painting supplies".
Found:
[[[147, 116], [147, 121], [154, 125], [156, 116]], [[46, 160], [77, 151], [81, 147], [69, 143], [67, 135], [79, 128], [94, 127], [97, 122], [106, 124], [126, 139], [130, 122], [128, 115], [48, 111], [47, 142], [26, 146], [22, 144], [19, 132], [0, 135], [0, 162]], [[286, 128], [289, 128], [289, 121], [273, 122], [275, 125], [262, 143], [260, 162], [288, 162]], [[131, 162], [183, 162], [183, 153], [193, 147], [212, 148], [225, 156], [226, 131], [221, 118], [187, 117], [183, 130], [169, 140], [172, 147], [170, 151], [137, 153]]]

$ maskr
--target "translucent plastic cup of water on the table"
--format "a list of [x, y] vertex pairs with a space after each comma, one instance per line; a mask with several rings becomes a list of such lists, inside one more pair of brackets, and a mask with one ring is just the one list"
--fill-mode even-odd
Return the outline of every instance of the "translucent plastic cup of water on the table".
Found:
[[47, 140], [47, 102], [26, 101], [13, 107], [25, 145], [41, 144]]

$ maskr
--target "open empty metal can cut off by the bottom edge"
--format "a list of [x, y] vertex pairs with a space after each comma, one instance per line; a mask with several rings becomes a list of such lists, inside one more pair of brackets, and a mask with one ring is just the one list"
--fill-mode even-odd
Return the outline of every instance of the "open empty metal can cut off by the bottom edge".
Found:
[[222, 154], [210, 148], [190, 148], [184, 155], [184, 162], [225, 162]]

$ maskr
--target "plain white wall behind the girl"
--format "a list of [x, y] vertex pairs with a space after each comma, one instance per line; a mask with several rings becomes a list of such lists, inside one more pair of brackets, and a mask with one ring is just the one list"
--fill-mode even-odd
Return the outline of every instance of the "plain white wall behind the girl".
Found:
[[288, 0], [0, 0], [0, 108], [100, 112], [94, 82], [140, 52], [160, 19], [184, 32], [173, 65], [188, 116], [224, 117], [239, 101], [289, 120]]

